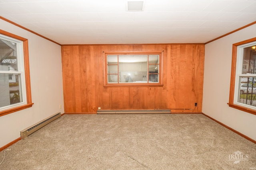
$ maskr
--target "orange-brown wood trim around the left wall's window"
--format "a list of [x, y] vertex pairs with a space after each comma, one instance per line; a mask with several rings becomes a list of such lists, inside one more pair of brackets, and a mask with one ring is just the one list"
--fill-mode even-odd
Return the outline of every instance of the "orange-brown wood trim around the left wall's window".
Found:
[[12, 33], [8, 33], [2, 29], [0, 29], [0, 34], [6, 35], [8, 37], [12, 37], [14, 39], [18, 39], [20, 41], [23, 41], [23, 53], [24, 53], [24, 71], [25, 71], [25, 81], [26, 81], [26, 98], [27, 98], [27, 104], [24, 104], [22, 106], [18, 107], [12, 107], [10, 109], [6, 109], [3, 111], [0, 111], [0, 116], [7, 115], [10, 113], [14, 113], [16, 111], [20, 111], [29, 107], [32, 107], [34, 103], [32, 103], [31, 98], [31, 86], [30, 86], [30, 71], [29, 71], [29, 57], [28, 57], [28, 39], [25, 39], [23, 37], [20, 37], [18, 35], [14, 35]]

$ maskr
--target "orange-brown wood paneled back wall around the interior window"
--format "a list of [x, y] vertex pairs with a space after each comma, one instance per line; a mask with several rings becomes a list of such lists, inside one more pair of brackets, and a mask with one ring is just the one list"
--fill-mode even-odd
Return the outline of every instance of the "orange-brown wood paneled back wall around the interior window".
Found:
[[[103, 86], [103, 51], [163, 50], [162, 87]], [[63, 45], [62, 74], [65, 113], [96, 113], [98, 107], [202, 112], [203, 44]]]

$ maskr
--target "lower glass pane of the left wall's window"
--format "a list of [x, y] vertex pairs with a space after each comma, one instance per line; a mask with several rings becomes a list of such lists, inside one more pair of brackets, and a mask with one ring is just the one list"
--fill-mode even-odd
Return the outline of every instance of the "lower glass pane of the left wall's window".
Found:
[[[12, 81], [10, 81], [10, 75]], [[22, 102], [20, 74], [0, 74], [0, 107]]]

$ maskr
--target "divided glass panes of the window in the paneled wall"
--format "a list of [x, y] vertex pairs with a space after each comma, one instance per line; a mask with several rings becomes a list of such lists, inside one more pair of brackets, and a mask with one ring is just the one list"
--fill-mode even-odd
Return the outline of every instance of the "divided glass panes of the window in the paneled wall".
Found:
[[159, 84], [160, 53], [106, 53], [106, 84]]

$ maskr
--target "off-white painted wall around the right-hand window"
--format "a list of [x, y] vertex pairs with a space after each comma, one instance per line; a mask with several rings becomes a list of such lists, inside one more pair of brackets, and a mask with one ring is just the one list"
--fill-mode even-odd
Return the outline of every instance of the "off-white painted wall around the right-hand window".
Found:
[[256, 37], [256, 24], [205, 45], [203, 108], [206, 115], [256, 140], [256, 115], [228, 106], [232, 44]]

